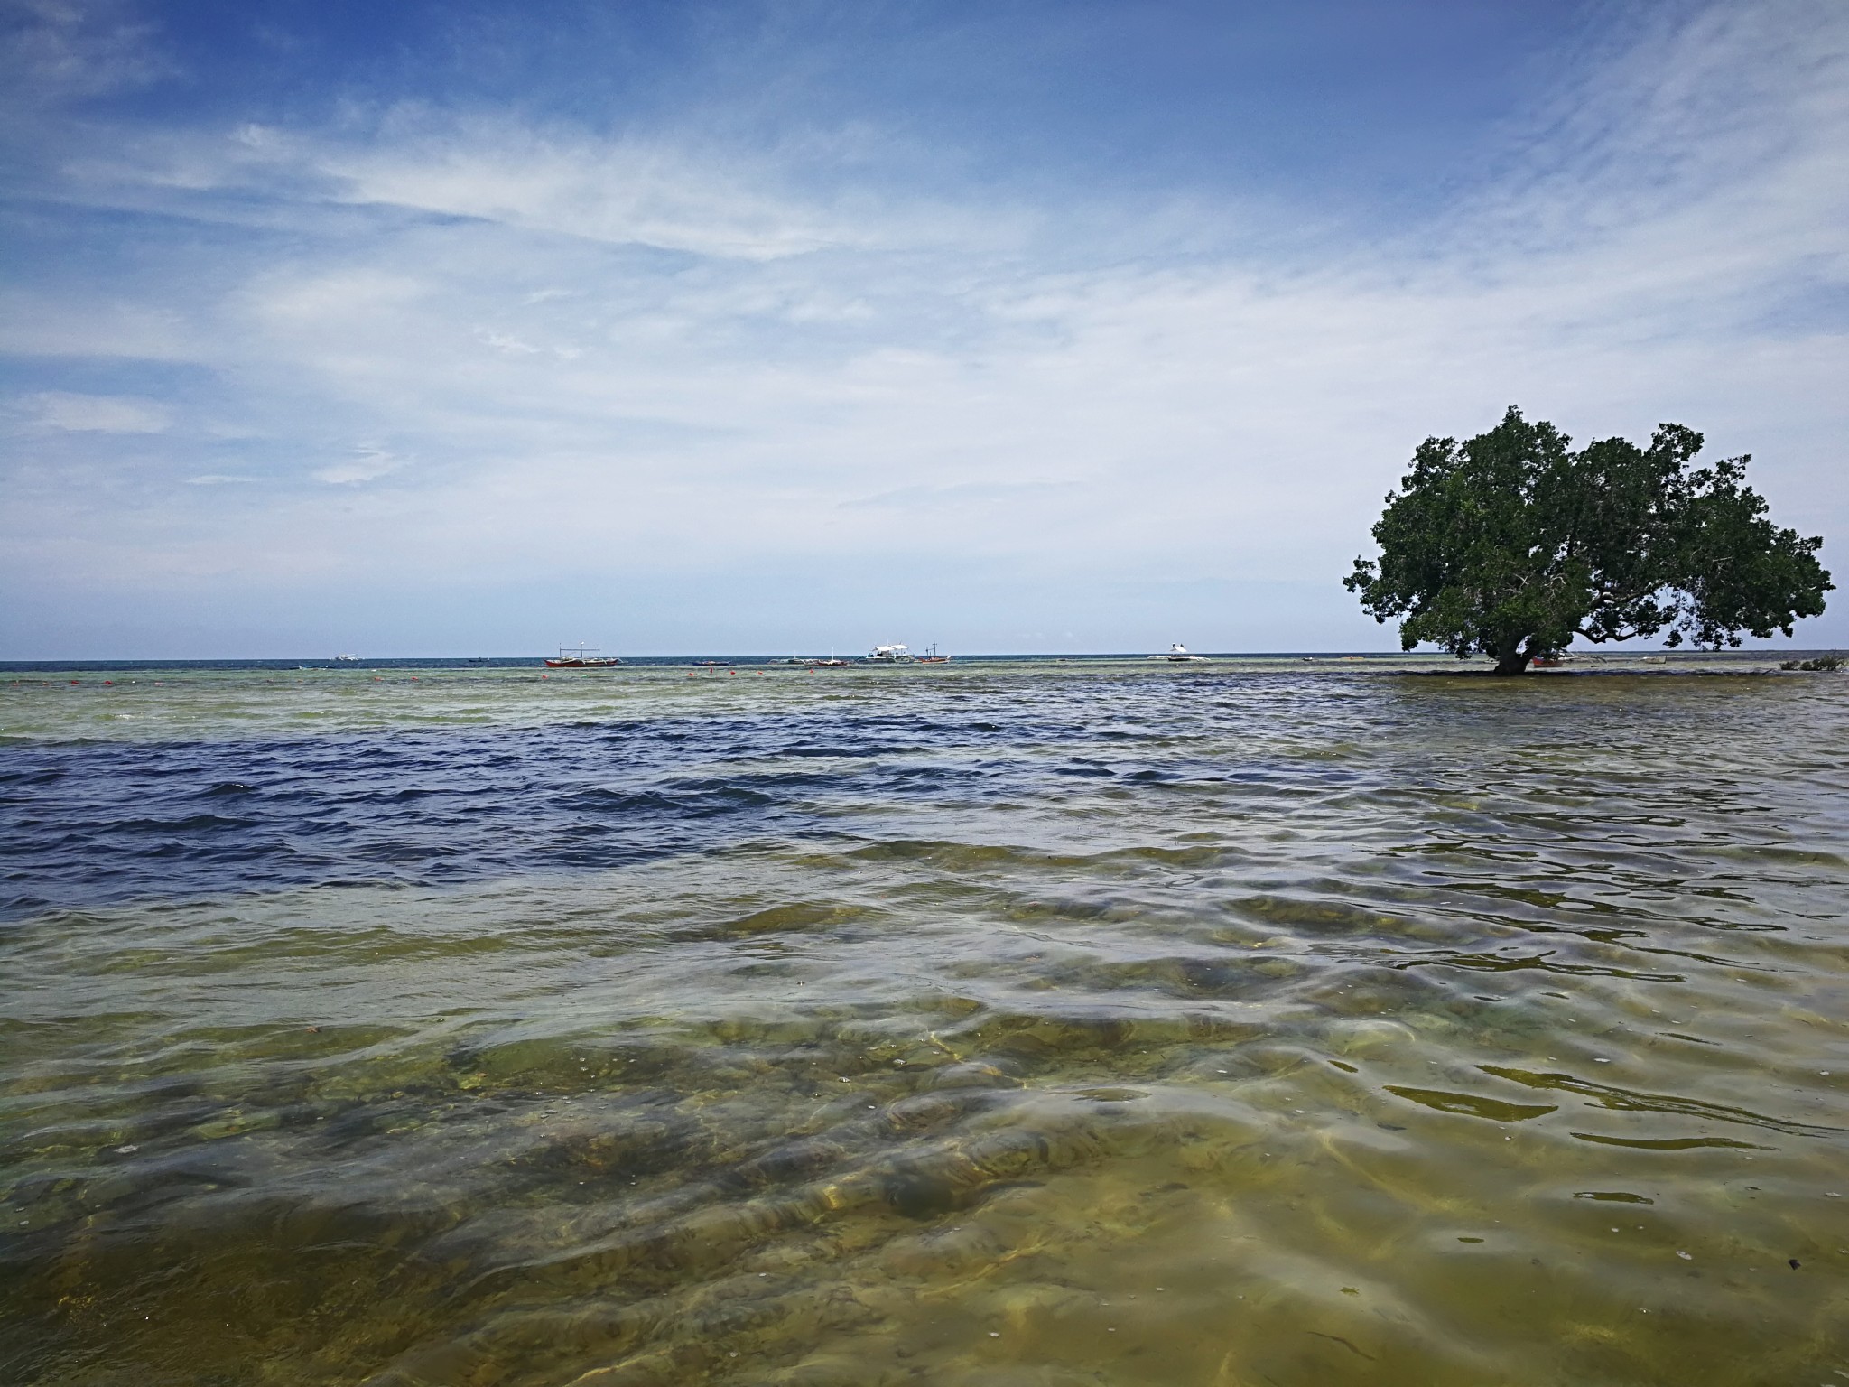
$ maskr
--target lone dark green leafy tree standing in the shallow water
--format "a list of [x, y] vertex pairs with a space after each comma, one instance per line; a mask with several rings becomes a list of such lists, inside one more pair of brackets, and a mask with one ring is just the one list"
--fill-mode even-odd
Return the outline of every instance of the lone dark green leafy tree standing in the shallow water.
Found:
[[1427, 438], [1387, 494], [1379, 560], [1342, 586], [1376, 621], [1398, 616], [1400, 647], [1431, 642], [1490, 655], [1518, 675], [1585, 636], [1655, 636], [1707, 649], [1740, 632], [1792, 634], [1834, 588], [1821, 538], [1766, 520], [1747, 457], [1692, 466], [1701, 435], [1664, 423], [1638, 448], [1599, 438], [1577, 453], [1551, 423], [1511, 405], [1488, 433]]

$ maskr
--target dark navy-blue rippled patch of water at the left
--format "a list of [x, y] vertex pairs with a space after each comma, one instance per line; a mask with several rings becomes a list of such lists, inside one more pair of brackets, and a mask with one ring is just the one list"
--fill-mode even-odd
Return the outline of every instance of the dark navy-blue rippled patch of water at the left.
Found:
[[814, 806], [828, 797], [902, 795], [919, 777], [956, 775], [904, 764], [926, 742], [1013, 736], [980, 719], [810, 714], [0, 747], [0, 908], [703, 853], [817, 832]]

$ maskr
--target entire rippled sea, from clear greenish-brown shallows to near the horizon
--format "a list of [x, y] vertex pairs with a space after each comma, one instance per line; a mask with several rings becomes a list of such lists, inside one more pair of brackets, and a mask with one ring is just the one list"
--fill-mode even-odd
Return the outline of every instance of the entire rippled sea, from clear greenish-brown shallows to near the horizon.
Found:
[[1405, 668], [0, 684], [0, 1378], [1849, 1381], [1849, 679]]

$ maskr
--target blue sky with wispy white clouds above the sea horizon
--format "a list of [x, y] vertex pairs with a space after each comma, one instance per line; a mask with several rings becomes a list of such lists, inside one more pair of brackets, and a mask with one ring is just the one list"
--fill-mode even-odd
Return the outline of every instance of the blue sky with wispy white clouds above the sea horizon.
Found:
[[0, 15], [0, 657], [1385, 649], [1509, 403], [1845, 568], [1832, 0]]

